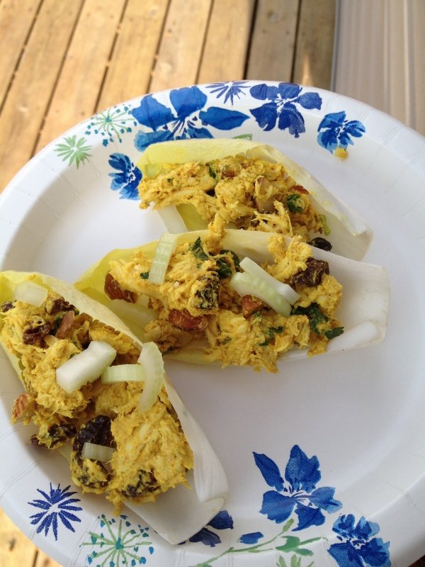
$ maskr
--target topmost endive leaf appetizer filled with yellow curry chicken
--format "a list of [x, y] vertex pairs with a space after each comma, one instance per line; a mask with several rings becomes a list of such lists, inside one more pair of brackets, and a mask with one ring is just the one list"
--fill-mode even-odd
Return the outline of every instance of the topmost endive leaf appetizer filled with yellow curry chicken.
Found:
[[303, 167], [270, 145], [243, 139], [173, 140], [137, 162], [140, 207], [153, 204], [169, 232], [227, 228], [300, 235], [315, 247], [362, 259], [372, 231]]

